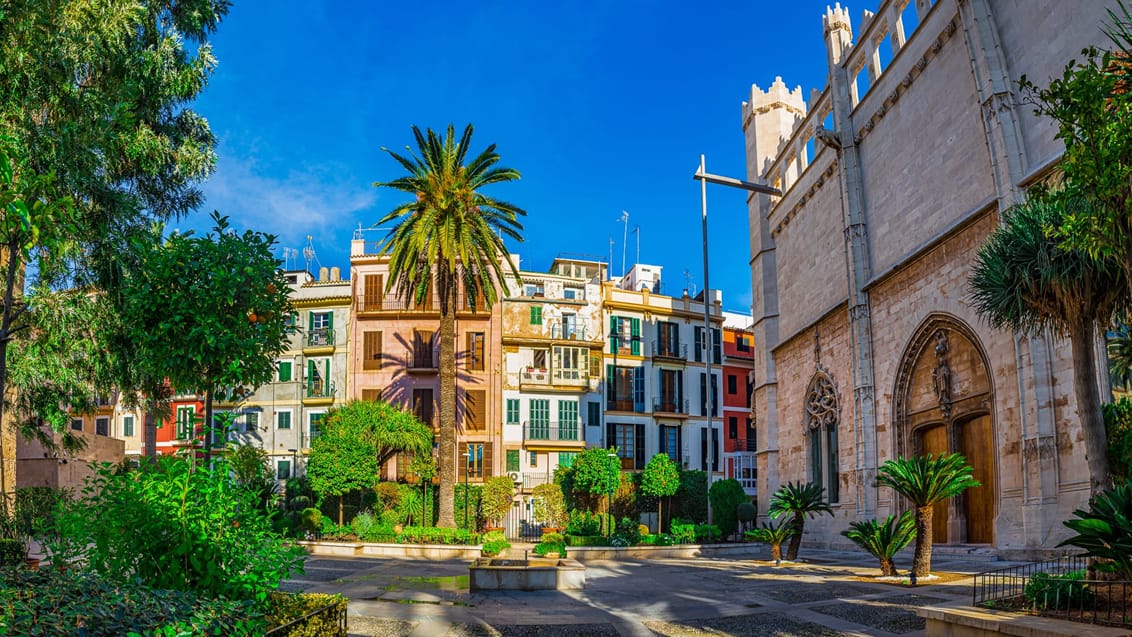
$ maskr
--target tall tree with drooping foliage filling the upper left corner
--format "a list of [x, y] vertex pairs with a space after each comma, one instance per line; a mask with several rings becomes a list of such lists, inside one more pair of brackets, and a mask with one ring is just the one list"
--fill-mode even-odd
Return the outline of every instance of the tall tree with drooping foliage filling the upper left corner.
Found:
[[[113, 286], [106, 266], [126, 238], [200, 203], [215, 139], [188, 104], [215, 67], [207, 37], [228, 8], [228, 0], [0, 2], [0, 408], [6, 365], [31, 367], [7, 350], [36, 322], [36, 302], [20, 298], [25, 275], [33, 289]], [[54, 338], [63, 347], [65, 338], [89, 336]]]

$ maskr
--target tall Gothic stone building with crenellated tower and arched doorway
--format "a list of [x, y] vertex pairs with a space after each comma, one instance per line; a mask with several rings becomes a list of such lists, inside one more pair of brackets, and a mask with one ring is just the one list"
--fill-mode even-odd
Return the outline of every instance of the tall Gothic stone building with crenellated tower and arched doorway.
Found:
[[775, 79], [743, 104], [748, 179], [782, 190], [749, 206], [758, 491], [826, 488], [834, 516], [807, 542], [904, 508], [875, 487], [898, 456], [975, 466], [984, 485], [937, 509], [943, 544], [1049, 549], [1086, 501], [1067, 343], [988, 328], [967, 277], [1062, 152], [1018, 79], [1101, 43], [1110, 5], [882, 0], [856, 37], [837, 6], [827, 86], [806, 101]]

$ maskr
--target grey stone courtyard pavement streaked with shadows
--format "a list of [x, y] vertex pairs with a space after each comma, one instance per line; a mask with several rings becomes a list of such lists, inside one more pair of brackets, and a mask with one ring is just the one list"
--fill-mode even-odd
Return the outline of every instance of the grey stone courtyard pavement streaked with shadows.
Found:
[[[765, 557], [589, 561], [582, 591], [475, 593], [468, 560], [312, 557], [285, 588], [346, 595], [350, 634], [381, 637], [912, 637], [916, 606], [970, 603], [970, 578], [861, 580], [880, 573], [864, 553], [803, 550], [804, 562], [779, 567]], [[1000, 566], [933, 561], [944, 573]]]

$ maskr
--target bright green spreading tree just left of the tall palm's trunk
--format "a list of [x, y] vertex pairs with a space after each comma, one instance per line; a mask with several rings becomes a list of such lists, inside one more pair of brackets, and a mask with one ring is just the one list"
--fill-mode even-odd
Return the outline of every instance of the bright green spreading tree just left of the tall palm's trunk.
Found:
[[381, 467], [398, 453], [427, 454], [432, 429], [384, 401], [350, 401], [326, 412], [318, 436], [310, 444], [307, 475], [321, 496], [337, 496], [338, 524], [342, 497], [358, 489], [374, 489]]

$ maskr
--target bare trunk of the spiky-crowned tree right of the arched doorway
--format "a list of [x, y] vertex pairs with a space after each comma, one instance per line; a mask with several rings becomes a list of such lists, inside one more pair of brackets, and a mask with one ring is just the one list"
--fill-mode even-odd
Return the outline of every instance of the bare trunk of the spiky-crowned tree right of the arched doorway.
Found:
[[1081, 433], [1084, 437], [1090, 493], [1096, 496], [1108, 487], [1109, 475], [1108, 442], [1105, 436], [1105, 419], [1100, 411], [1100, 395], [1097, 390], [1097, 360], [1094, 354], [1092, 335], [1091, 320], [1070, 326], [1077, 414], [1081, 419]]

